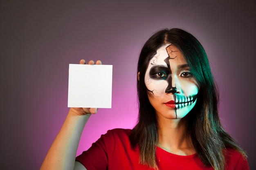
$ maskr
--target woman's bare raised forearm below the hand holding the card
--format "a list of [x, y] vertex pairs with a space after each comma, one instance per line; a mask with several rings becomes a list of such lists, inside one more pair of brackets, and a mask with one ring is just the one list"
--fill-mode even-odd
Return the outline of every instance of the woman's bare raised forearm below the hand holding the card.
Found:
[[54, 139], [40, 170], [73, 170], [76, 151], [90, 114], [78, 115], [70, 109], [64, 124]]

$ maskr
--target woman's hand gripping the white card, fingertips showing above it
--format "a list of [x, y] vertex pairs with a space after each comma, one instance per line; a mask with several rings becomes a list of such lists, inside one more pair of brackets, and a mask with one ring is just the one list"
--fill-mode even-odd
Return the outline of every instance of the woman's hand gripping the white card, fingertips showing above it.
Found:
[[[85, 60], [80, 60], [79, 64], [85, 64]], [[88, 64], [94, 65], [95, 63], [93, 60], [90, 60]], [[97, 60], [96, 64], [102, 64], [101, 60]], [[96, 114], [97, 110], [98, 108], [70, 108], [70, 111], [77, 115]]]

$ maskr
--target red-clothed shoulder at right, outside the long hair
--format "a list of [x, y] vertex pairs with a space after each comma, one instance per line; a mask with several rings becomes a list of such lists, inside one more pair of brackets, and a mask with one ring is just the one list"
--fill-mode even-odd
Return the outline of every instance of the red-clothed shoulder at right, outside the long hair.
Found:
[[249, 164], [245, 155], [237, 150], [227, 148], [224, 150], [226, 165], [229, 168], [249, 170]]

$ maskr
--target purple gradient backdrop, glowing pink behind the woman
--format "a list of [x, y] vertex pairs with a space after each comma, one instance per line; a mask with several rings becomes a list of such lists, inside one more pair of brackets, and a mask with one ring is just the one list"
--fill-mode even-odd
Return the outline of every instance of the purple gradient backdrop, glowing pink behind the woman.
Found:
[[112, 108], [90, 118], [78, 154], [108, 129], [132, 128], [140, 49], [153, 32], [173, 27], [204, 46], [222, 123], [256, 169], [254, 0], [2, 0], [0, 14], [1, 170], [40, 168], [69, 110], [68, 64], [82, 58], [113, 65], [113, 90]]

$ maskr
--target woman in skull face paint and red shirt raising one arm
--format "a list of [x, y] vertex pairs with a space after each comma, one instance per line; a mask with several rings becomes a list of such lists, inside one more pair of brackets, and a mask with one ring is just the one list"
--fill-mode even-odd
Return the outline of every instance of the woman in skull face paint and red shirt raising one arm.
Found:
[[75, 161], [83, 127], [97, 109], [70, 108], [41, 170], [249, 170], [245, 152], [220, 124], [207, 55], [193, 35], [181, 29], [152, 35], [137, 73], [135, 128], [109, 130]]

